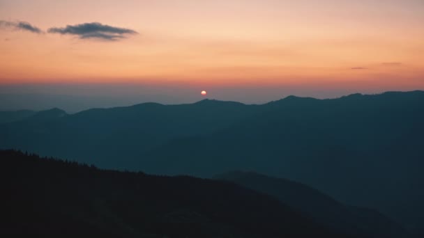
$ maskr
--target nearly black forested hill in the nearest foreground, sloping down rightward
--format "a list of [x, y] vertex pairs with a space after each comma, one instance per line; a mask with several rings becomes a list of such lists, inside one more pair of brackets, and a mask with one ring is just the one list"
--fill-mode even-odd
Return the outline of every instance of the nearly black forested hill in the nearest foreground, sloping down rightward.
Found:
[[236, 184], [0, 151], [3, 235], [347, 237]]

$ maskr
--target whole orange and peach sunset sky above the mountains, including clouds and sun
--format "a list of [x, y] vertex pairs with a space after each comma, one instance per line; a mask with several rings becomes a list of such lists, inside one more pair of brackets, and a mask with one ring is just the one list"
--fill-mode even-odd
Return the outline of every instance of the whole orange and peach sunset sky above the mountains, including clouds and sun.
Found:
[[0, 97], [172, 104], [206, 90], [261, 103], [423, 90], [423, 22], [422, 0], [0, 0]]

